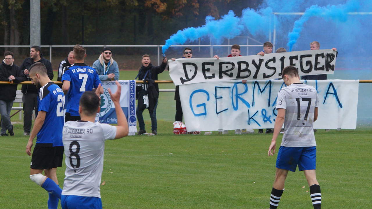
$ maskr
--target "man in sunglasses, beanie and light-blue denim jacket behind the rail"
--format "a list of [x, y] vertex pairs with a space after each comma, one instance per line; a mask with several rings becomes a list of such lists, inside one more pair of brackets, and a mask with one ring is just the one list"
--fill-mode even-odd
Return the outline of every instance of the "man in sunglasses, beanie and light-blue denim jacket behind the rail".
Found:
[[103, 48], [102, 54], [93, 62], [92, 67], [96, 68], [101, 81], [119, 80], [118, 63], [112, 58], [112, 51], [108, 47]]

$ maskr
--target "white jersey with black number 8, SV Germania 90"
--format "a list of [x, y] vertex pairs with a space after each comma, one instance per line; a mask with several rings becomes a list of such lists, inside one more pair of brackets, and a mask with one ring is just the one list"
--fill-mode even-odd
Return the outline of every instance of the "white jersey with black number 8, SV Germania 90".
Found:
[[62, 194], [100, 198], [105, 141], [115, 138], [116, 126], [68, 121], [62, 135], [66, 155]]

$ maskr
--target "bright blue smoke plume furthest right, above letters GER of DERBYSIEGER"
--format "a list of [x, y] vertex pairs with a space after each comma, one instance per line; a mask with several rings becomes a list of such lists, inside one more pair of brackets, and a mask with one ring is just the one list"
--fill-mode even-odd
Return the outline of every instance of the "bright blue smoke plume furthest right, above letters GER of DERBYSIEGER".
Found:
[[310, 19], [310, 17], [323, 17], [326, 21], [334, 22], [346, 22], [349, 12], [357, 12], [360, 8], [360, 3], [357, 0], [348, 1], [346, 4], [327, 5], [325, 7], [320, 7], [318, 5], [312, 5], [310, 8], [305, 10], [304, 15], [302, 15], [294, 23], [294, 28], [291, 33], [288, 34], [289, 42], [287, 46], [289, 51], [292, 51], [293, 45], [297, 42], [302, 30], [304, 29], [304, 24]]

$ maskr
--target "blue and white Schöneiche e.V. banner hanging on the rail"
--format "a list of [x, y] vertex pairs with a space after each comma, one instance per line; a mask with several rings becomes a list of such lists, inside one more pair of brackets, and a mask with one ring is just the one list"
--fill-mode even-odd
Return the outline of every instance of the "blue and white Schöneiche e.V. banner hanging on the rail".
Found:
[[[121, 84], [120, 106], [126, 116], [129, 126], [129, 134], [135, 135], [137, 133], [137, 119], [136, 119], [136, 88], [135, 80], [119, 80]], [[118, 89], [115, 81], [102, 81], [103, 94], [101, 94], [101, 109], [97, 113], [96, 122], [100, 123], [118, 123], [116, 117], [115, 106], [112, 103], [108, 89], [115, 93]]]

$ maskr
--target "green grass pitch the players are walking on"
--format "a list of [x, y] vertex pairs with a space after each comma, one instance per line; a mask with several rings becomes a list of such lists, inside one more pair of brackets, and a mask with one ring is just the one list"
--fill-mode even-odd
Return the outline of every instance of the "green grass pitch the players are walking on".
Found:
[[[137, 75], [125, 73], [121, 79]], [[272, 134], [173, 135], [174, 94], [160, 96], [157, 136], [106, 142], [104, 209], [269, 208], [277, 156], [267, 156]], [[150, 119], [145, 120], [150, 130]], [[318, 129], [315, 138], [323, 208], [372, 208], [372, 129]], [[47, 208], [47, 192], [29, 179], [31, 157], [25, 153], [28, 137], [22, 124], [15, 124], [15, 136], [0, 140], [0, 208]], [[65, 165], [57, 169], [61, 187], [64, 170]], [[278, 209], [311, 209], [308, 190], [303, 172], [290, 172]]]

